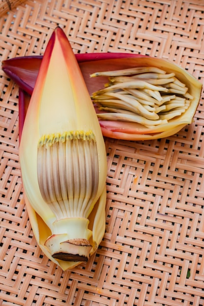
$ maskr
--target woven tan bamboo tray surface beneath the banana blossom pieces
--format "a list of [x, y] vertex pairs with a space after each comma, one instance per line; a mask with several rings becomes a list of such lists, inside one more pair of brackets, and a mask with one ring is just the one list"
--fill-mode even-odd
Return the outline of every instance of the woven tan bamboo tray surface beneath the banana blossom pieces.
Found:
[[[204, 0], [23, 1], [1, 14], [0, 60], [43, 54], [56, 25], [75, 53], [156, 56], [204, 80]], [[105, 139], [106, 233], [88, 263], [63, 272], [32, 233], [18, 87], [0, 70], [0, 305], [204, 305], [203, 99], [194, 122], [167, 139]]]

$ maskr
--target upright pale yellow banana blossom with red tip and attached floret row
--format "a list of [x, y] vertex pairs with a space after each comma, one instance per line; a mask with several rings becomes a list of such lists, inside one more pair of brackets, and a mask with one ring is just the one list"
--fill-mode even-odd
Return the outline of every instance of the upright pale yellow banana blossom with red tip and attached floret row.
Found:
[[41, 249], [63, 270], [88, 261], [105, 231], [106, 150], [90, 94], [59, 27], [39, 69], [19, 156], [26, 208]]

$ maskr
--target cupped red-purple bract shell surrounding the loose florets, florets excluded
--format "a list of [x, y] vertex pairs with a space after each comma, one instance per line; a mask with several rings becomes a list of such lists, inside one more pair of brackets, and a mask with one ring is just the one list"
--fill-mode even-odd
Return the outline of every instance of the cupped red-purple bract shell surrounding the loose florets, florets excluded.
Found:
[[[98, 71], [153, 66], [165, 70], [167, 74], [174, 73], [175, 77], [188, 88], [188, 93], [191, 96], [189, 107], [186, 110], [181, 110], [181, 115], [171, 118], [168, 122], [162, 121], [161, 124], [152, 127], [147, 127], [138, 122], [124, 121], [124, 114], [122, 116], [120, 114], [116, 116], [112, 112], [107, 114], [97, 103], [94, 103], [104, 136], [124, 140], [158, 139], [171, 136], [187, 124], [192, 123], [200, 101], [202, 84], [180, 66], [168, 60], [127, 53], [76, 54], [76, 59], [90, 95], [99, 91], [108, 82], [107, 76], [104, 75], [97, 78], [90, 78], [90, 75], [96, 75]], [[2, 68], [22, 88], [23, 92], [25, 91], [30, 94], [35, 84], [35, 77], [37, 76], [38, 66], [41, 60], [42, 57], [40, 56], [15, 58], [4, 61]], [[24, 105], [26, 101], [28, 102], [23, 94], [21, 97], [20, 105]], [[113, 115], [116, 116], [116, 119], [113, 119]], [[21, 116], [20, 109], [21, 125], [23, 125], [23, 120], [24, 117]]]

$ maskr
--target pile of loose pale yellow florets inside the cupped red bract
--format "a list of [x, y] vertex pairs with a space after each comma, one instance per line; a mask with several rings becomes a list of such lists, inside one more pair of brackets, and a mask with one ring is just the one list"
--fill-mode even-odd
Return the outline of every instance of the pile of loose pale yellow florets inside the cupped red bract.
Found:
[[108, 76], [110, 81], [91, 96], [103, 111], [97, 114], [103, 120], [133, 121], [152, 128], [180, 116], [194, 98], [174, 72], [156, 67], [91, 74], [95, 76]]

